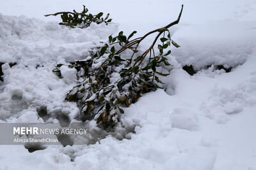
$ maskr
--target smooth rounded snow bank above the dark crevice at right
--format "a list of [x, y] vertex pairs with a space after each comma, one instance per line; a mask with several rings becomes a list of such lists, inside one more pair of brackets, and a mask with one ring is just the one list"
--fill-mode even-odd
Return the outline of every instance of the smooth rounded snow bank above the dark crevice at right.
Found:
[[[173, 39], [183, 50], [173, 55], [182, 66], [223, 65], [236, 67], [243, 64], [255, 52], [255, 22], [207, 22], [184, 26], [175, 32]], [[212, 57], [214, 56], [214, 57]]]

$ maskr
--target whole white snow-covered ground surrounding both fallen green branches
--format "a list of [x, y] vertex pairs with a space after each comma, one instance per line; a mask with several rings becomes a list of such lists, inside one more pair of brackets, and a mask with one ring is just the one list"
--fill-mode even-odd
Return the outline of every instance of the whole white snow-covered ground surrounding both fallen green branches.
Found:
[[[43, 16], [80, 11], [82, 4], [92, 13], [109, 12], [115, 23], [70, 30], [58, 25], [58, 17]], [[63, 102], [76, 85], [76, 72], [63, 67], [60, 79], [54, 66], [83, 59], [109, 34], [136, 30], [139, 36], [164, 26], [177, 18], [181, 4], [180, 24], [171, 29], [181, 47], [169, 56], [173, 69], [163, 79], [166, 90], [145, 94], [125, 108], [120, 132], [128, 129], [131, 139], [118, 140], [115, 134], [92, 145], [49, 146], [33, 153], [2, 145], [0, 169], [255, 170], [255, 0], [2, 1], [0, 62], [19, 64], [2, 66], [0, 122], [44, 122], [36, 112], [40, 106], [76, 121], [76, 104]], [[182, 69], [190, 64], [200, 70], [193, 76]], [[204, 69], [212, 64], [233, 69]], [[92, 138], [100, 131], [93, 130], [95, 122], [88, 128]]]

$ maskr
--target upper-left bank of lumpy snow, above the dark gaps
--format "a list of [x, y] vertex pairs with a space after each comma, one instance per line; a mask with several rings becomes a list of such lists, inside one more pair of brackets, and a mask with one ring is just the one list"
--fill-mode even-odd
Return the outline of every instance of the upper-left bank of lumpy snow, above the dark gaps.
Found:
[[[88, 51], [108, 39], [116, 25], [92, 24], [87, 29], [70, 29], [56, 22], [43, 22], [0, 15], [1, 62], [37, 65], [74, 61], [89, 55]], [[95, 33], [100, 32], [100, 33]], [[47, 50], [45, 50], [47, 49]]]

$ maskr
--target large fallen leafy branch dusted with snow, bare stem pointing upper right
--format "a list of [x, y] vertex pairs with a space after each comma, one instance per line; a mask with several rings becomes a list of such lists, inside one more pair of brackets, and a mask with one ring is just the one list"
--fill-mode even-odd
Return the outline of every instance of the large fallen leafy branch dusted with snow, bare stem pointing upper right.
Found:
[[[90, 57], [70, 62], [68, 67], [77, 69], [77, 78], [81, 81], [68, 92], [65, 100], [77, 103], [84, 120], [95, 119], [102, 127], [115, 126], [118, 114], [124, 113], [122, 107], [129, 107], [142, 94], [161, 88], [163, 82], [159, 80], [159, 76], [167, 76], [169, 73], [162, 73], [157, 67], [170, 66], [166, 57], [171, 53], [171, 50], [167, 50], [168, 46], [179, 47], [172, 40], [168, 28], [179, 23], [182, 9], [178, 19], [165, 27], [132, 40], [130, 39], [136, 31], [129, 36], [121, 31], [117, 36], [109, 36], [108, 43], [100, 46], [99, 51], [92, 53]], [[157, 36], [152, 45], [145, 52], [139, 52], [141, 41], [154, 33]], [[161, 43], [157, 45], [156, 53], [154, 48], [158, 39]], [[122, 55], [128, 50], [128, 55]], [[53, 70], [60, 77], [59, 68], [62, 65], [58, 64]]]

